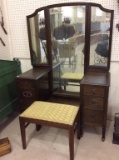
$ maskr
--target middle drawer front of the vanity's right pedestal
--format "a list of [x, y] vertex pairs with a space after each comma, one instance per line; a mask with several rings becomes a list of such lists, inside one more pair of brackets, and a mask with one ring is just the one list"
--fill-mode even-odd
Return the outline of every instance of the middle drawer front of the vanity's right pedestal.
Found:
[[96, 96], [83, 96], [84, 108], [94, 108], [103, 110], [104, 99]]

